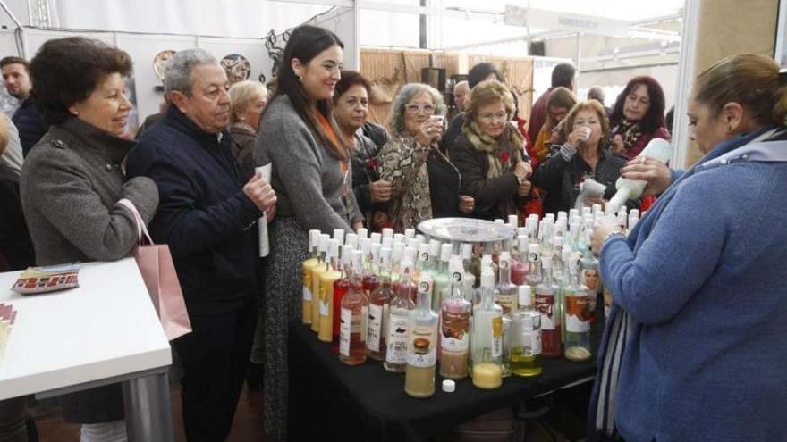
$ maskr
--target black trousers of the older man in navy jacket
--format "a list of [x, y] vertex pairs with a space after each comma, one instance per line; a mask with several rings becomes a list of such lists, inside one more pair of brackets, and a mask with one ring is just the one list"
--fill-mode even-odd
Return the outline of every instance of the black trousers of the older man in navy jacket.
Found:
[[181, 359], [189, 442], [221, 442], [233, 426], [257, 324], [254, 299], [227, 313], [190, 315], [193, 331], [173, 341]]

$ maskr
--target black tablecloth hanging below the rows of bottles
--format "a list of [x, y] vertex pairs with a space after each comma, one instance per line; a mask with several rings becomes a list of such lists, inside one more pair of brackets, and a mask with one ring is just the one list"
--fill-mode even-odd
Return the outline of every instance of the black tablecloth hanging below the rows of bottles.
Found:
[[436, 376], [435, 395], [416, 399], [404, 393], [404, 373], [385, 371], [382, 363], [348, 366], [308, 326], [290, 329], [291, 440], [326, 436], [344, 440], [428, 440], [484, 413], [588, 379], [596, 372], [595, 354], [603, 332], [598, 315], [592, 329], [594, 358], [572, 363], [543, 358], [544, 372], [534, 379], [509, 377], [495, 390], [482, 390], [470, 378], [444, 393]]

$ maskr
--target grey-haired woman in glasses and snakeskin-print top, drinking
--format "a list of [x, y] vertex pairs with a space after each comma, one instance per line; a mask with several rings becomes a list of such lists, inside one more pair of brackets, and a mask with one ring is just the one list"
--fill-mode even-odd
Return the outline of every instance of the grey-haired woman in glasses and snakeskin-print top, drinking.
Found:
[[474, 208], [470, 196], [460, 196], [459, 171], [437, 145], [444, 112], [443, 97], [424, 84], [402, 86], [393, 100], [392, 137], [380, 153], [380, 179], [393, 185], [388, 217], [396, 231]]

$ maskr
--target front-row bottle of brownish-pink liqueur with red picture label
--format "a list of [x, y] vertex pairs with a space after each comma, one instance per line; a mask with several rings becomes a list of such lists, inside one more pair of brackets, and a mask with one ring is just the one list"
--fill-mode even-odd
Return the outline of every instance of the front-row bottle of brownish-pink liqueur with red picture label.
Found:
[[440, 313], [440, 376], [445, 379], [463, 379], [468, 375], [473, 304], [461, 295], [461, 282], [454, 279]]

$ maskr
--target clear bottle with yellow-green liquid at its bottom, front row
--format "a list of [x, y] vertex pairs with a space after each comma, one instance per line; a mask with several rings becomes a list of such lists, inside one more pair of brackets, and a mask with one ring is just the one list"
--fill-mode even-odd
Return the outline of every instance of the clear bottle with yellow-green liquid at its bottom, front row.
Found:
[[541, 374], [541, 313], [533, 307], [533, 288], [520, 286], [519, 310], [512, 317], [511, 371], [529, 378]]

